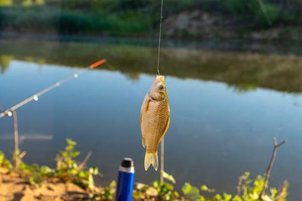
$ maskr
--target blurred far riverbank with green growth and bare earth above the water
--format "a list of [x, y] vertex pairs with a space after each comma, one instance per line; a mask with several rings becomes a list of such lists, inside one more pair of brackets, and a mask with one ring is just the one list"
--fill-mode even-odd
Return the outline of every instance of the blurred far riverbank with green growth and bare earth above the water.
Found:
[[[160, 2], [4, 0], [0, 31], [22, 34], [155, 37]], [[300, 2], [165, 1], [163, 37], [301, 41]], [[89, 12], [88, 12], [89, 11]]]

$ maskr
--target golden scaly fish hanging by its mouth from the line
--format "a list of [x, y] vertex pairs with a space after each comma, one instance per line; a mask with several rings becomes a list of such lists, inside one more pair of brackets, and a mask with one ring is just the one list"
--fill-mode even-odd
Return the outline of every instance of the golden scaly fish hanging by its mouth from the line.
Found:
[[157, 75], [145, 95], [140, 109], [140, 129], [143, 148], [146, 148], [144, 168], [152, 164], [158, 169], [158, 146], [170, 125], [170, 106], [165, 76]]

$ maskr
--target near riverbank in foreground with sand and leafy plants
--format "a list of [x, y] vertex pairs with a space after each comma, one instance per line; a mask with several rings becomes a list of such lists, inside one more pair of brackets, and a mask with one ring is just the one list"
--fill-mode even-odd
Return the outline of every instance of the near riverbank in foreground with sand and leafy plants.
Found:
[[[99, 175], [98, 169], [86, 167], [89, 157], [81, 163], [77, 161], [75, 158], [80, 155], [80, 152], [74, 149], [77, 143], [70, 139], [66, 142], [65, 150], [56, 157], [55, 169], [37, 164], [25, 164], [22, 160], [25, 156], [24, 151], [21, 153], [19, 150], [15, 151], [14, 164], [3, 152], [0, 152], [0, 201], [114, 200], [116, 182], [112, 181], [105, 187], [95, 185], [94, 176]], [[281, 142], [279, 146], [283, 143]], [[271, 170], [272, 165], [273, 163], [270, 162], [268, 169]], [[270, 170], [265, 174], [268, 177]], [[235, 195], [225, 192], [216, 193], [215, 189], [204, 184], [198, 188], [188, 182], [184, 183], [182, 192], [178, 192], [174, 189], [175, 178], [164, 171], [161, 174], [165, 179], [163, 184], [159, 180], [154, 181], [152, 185], [135, 183], [133, 200], [257, 201], [262, 197], [264, 201], [285, 201], [288, 194], [287, 181], [284, 181], [279, 189], [269, 188], [270, 193], [266, 194], [268, 177], [258, 175], [255, 180], [252, 180], [249, 178], [249, 172], [239, 177]]]

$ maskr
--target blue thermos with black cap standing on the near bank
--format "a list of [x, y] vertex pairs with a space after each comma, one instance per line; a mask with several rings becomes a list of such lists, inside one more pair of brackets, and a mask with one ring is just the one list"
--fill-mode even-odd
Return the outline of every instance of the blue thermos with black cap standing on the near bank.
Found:
[[134, 163], [131, 158], [124, 158], [119, 170], [116, 188], [116, 201], [131, 201], [134, 184]]

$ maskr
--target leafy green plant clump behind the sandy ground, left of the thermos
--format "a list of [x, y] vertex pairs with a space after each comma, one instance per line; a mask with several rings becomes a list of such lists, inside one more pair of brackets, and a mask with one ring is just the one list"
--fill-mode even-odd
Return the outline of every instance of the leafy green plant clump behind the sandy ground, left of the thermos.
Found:
[[[48, 166], [39, 166], [38, 164], [27, 165], [22, 161], [25, 152], [21, 154], [14, 153], [18, 160], [18, 173], [19, 176], [24, 178], [31, 185], [39, 185], [48, 178], [59, 178], [62, 181], [70, 181], [80, 187], [93, 190], [95, 188], [94, 175], [101, 175], [98, 168], [90, 167], [84, 168], [84, 164], [78, 165], [78, 161], [74, 158], [80, 155], [79, 151], [74, 150], [77, 144], [74, 141], [67, 139], [67, 146], [64, 151], [60, 152], [57, 156], [57, 168], [51, 169]], [[11, 163], [5, 159], [4, 154], [0, 152], [0, 167], [12, 168]]]

